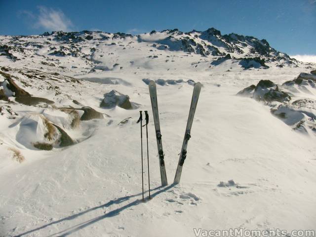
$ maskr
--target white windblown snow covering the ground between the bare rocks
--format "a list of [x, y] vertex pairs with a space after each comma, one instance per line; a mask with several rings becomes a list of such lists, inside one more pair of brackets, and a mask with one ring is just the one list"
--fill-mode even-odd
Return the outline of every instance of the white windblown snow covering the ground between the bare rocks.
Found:
[[[99, 35], [93, 33], [94, 38]], [[157, 41], [164, 39], [164, 34], [141, 37]], [[4, 36], [0, 39], [8, 40]], [[109, 45], [112, 41], [117, 45]], [[130, 41], [133, 43], [128, 44]], [[62, 45], [53, 40], [50, 43]], [[7, 73], [17, 77], [14, 80], [19, 86], [34, 96], [53, 100], [56, 108], [81, 107], [73, 102], [76, 100], [111, 116], [80, 121], [77, 128], [72, 128], [69, 115], [56, 108], [0, 101], [0, 106], [9, 105], [18, 114], [15, 119], [8, 118], [8, 112], [0, 116], [0, 236], [194, 236], [193, 228], [316, 230], [315, 132], [294, 131], [286, 124], [293, 121], [273, 116], [269, 106], [236, 96], [261, 79], [281, 85], [302, 72], [309, 73], [308, 67], [315, 65], [298, 63], [297, 67], [278, 68], [278, 62], [270, 62], [269, 69], [249, 70], [234, 60], [211, 65], [216, 59], [213, 56], [159, 50], [151, 43], [137, 42], [136, 37], [105, 40], [99, 45], [93, 40], [78, 44], [85, 49], [96, 47], [94, 57], [100, 64], [113, 67], [118, 63], [118, 68], [123, 68], [90, 72], [95, 66], [92, 62], [82, 57], [50, 56], [43, 48], [34, 58], [16, 62], [0, 56], [0, 68], [9, 68]], [[150, 55], [158, 58], [148, 58]], [[44, 60], [66, 68], [43, 65], [40, 61]], [[29, 78], [20, 71], [33, 76]], [[166, 187], [160, 187], [154, 121], [148, 85], [143, 79], [184, 81], [157, 84], [169, 182]], [[181, 181], [173, 186], [193, 91], [193, 86], [186, 83], [189, 79], [203, 86]], [[292, 91], [292, 101], [315, 100], [312, 86], [307, 87], [308, 92], [293, 87], [296, 91]], [[101, 108], [104, 94], [112, 90], [128, 95], [139, 108]], [[141, 201], [140, 125], [136, 123], [139, 110], [148, 110], [150, 116], [153, 198], [145, 202]], [[305, 116], [298, 110], [284, 110], [293, 113], [292, 118]], [[51, 151], [33, 148], [32, 142], [45, 133], [41, 116], [65, 129], [76, 144]], [[129, 117], [128, 122], [118, 125]], [[145, 139], [143, 143], [148, 197]], [[19, 149], [25, 161], [13, 160], [13, 152], [8, 150], [11, 147]], [[221, 182], [232, 184], [230, 180], [235, 185], [221, 187]]]

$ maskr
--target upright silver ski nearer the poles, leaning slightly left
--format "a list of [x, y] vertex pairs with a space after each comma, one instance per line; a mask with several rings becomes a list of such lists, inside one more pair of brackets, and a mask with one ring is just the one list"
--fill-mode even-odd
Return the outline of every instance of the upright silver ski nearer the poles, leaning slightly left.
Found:
[[150, 94], [150, 100], [152, 102], [153, 117], [154, 117], [155, 130], [156, 130], [161, 186], [166, 186], [168, 185], [168, 181], [167, 181], [167, 174], [166, 174], [166, 169], [164, 165], [164, 155], [163, 155], [163, 150], [162, 150], [162, 140], [161, 140], [161, 133], [160, 133], [158, 102], [157, 102], [157, 89], [156, 89], [156, 83], [153, 80], [149, 82], [149, 94]]

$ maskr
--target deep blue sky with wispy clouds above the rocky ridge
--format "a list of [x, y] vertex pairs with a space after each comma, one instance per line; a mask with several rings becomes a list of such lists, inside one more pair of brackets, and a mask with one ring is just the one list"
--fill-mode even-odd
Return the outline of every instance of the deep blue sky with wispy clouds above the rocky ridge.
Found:
[[316, 0], [0, 0], [0, 35], [214, 27], [316, 62]]

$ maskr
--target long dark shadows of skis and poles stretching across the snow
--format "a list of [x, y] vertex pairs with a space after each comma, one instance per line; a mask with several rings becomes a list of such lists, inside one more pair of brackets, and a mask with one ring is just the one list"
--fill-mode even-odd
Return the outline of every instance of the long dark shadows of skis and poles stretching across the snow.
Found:
[[[167, 186], [167, 187], [165, 187], [165, 188], [162, 188], [161, 186], [158, 186], [158, 187], [155, 188], [155, 189], [151, 189], [151, 191], [156, 191], [156, 190], [160, 189], [160, 190], [158, 190], [157, 192], [155, 192], [154, 194], [151, 194], [151, 198], [154, 198], [154, 197], [156, 197], [158, 194], [160, 194], [160, 193], [162, 193], [162, 192], [165, 192], [165, 191], [171, 189], [173, 186], [174, 186], [174, 184], [169, 185], [169, 186]], [[144, 192], [144, 193], [147, 193], [147, 192], [148, 192], [148, 191], [146, 191], [146, 192]], [[14, 237], [22, 237], [22, 236], [24, 236], [24, 235], [28, 235], [28, 234], [33, 233], [33, 232], [35, 232], [35, 231], [39, 231], [39, 230], [41, 230], [41, 229], [44, 229], [44, 228], [46, 228], [46, 227], [48, 227], [48, 226], [51, 226], [51, 225], [54, 225], [54, 224], [58, 224], [58, 223], [63, 222], [63, 221], [73, 220], [73, 219], [75, 219], [75, 218], [77, 218], [77, 217], [79, 217], [79, 216], [81, 216], [81, 215], [84, 215], [84, 214], [86, 214], [86, 213], [88, 213], [88, 212], [91, 212], [91, 211], [94, 211], [94, 210], [97, 210], [97, 209], [103, 208], [103, 207], [109, 207], [109, 206], [111, 206], [111, 205], [113, 205], [113, 204], [119, 204], [119, 203], [121, 203], [121, 202], [124, 202], [124, 201], [129, 200], [131, 197], [137, 197], [137, 196], [140, 196], [140, 195], [142, 195], [142, 193], [135, 194], [135, 195], [130, 195], [130, 196], [125, 196], [125, 197], [119, 197], [119, 198], [117, 198], [117, 199], [110, 200], [110, 201], [108, 201], [108, 202], [105, 203], [105, 204], [92, 207], [92, 208], [90, 208], [90, 209], [87, 209], [87, 210], [85, 210], [85, 211], [79, 212], [79, 213], [77, 213], [77, 214], [74, 214], [74, 215], [71, 215], [71, 216], [68, 216], [68, 217], [59, 219], [59, 220], [57, 220], [57, 221], [53, 221], [53, 222], [51, 222], [51, 223], [48, 223], [48, 224], [46, 224], [46, 225], [43, 225], [43, 226], [41, 226], [41, 227], [35, 228], [35, 229], [33, 229], [33, 230], [30, 230], [30, 231], [24, 232], [24, 233], [22, 233], [22, 234], [20, 234], [20, 235], [14, 236]], [[98, 222], [98, 221], [100, 221], [100, 220], [102, 220], [102, 219], [104, 219], [104, 218], [116, 216], [116, 215], [118, 215], [121, 211], [123, 211], [123, 210], [125, 210], [125, 209], [127, 209], [127, 208], [129, 208], [129, 207], [131, 207], [131, 206], [138, 205], [139, 203], [142, 203], [142, 202], [143, 202], [142, 199], [136, 199], [136, 200], [134, 200], [134, 201], [132, 201], [132, 202], [130, 202], [130, 203], [128, 203], [128, 204], [122, 206], [122, 207], [119, 207], [119, 208], [117, 208], [117, 209], [115, 209], [115, 210], [112, 210], [112, 211], [110, 211], [110, 212], [108, 212], [108, 213], [106, 213], [106, 214], [104, 214], [104, 215], [101, 215], [101, 216], [92, 218], [92, 219], [90, 219], [90, 220], [88, 220], [88, 221], [85, 221], [85, 222], [82, 222], [82, 223], [80, 223], [80, 224], [78, 224], [78, 225], [75, 225], [75, 226], [73, 226], [73, 227], [67, 228], [67, 229], [65, 229], [65, 230], [63, 230], [63, 231], [61, 231], [61, 232], [52, 234], [52, 235], [50, 235], [50, 236], [48, 236], [48, 237], [53, 237], [53, 236], [68, 236], [68, 235], [70, 235], [70, 234], [72, 234], [72, 233], [74, 233], [74, 232], [76, 232], [76, 231], [79, 231], [80, 229], [83, 229], [83, 228], [85, 228], [85, 227], [87, 227], [87, 226], [89, 226], [89, 225], [92, 225], [93, 223]], [[63, 234], [62, 234], [62, 233], [63, 233]]]

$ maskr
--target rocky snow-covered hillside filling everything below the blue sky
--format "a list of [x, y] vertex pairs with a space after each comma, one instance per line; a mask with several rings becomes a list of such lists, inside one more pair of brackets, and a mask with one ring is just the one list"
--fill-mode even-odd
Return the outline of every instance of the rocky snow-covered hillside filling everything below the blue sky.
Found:
[[[316, 230], [315, 64], [214, 28], [0, 36], [0, 54], [0, 236]], [[160, 187], [150, 80], [169, 184], [203, 85], [177, 186]]]

